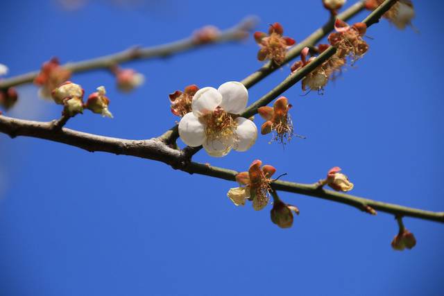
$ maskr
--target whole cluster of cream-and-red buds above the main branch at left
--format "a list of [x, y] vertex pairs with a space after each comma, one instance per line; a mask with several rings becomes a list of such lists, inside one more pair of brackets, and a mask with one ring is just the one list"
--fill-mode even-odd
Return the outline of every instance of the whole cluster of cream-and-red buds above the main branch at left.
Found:
[[105, 96], [105, 87], [98, 87], [97, 91], [89, 95], [87, 103], [84, 104], [85, 90], [80, 85], [67, 81], [60, 87], [53, 89], [51, 96], [55, 103], [64, 106], [64, 116], [75, 116], [83, 113], [84, 108], [87, 108], [94, 113], [112, 118], [112, 114], [108, 111], [110, 100]]

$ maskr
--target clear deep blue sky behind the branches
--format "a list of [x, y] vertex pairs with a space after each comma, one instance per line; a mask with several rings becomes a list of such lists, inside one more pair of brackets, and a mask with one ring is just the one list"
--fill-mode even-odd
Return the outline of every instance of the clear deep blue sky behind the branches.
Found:
[[[259, 158], [296, 182], [316, 182], [341, 166], [355, 183], [352, 194], [444, 210], [444, 5], [415, 5], [420, 33], [381, 21], [368, 30], [373, 40], [365, 58], [323, 96], [300, 96], [300, 84], [285, 93], [296, 132], [306, 140], [283, 149], [259, 137], [246, 153], [214, 159], [200, 152], [196, 161], [245, 171]], [[0, 62], [11, 76], [38, 69], [53, 55], [68, 62], [161, 44], [206, 24], [228, 28], [246, 15], [262, 19], [259, 31], [280, 21], [300, 41], [328, 16], [321, 0], [90, 1], [78, 10], [28, 0], [2, 1], [0, 11]], [[241, 80], [261, 65], [256, 53], [250, 38], [126, 64], [147, 78], [129, 95], [117, 92], [105, 71], [75, 75], [86, 92], [107, 87], [115, 118], [85, 112], [67, 126], [155, 137], [177, 120], [169, 93]], [[250, 89], [250, 102], [288, 74], [285, 66]], [[60, 115], [60, 106], [37, 98], [32, 85], [19, 92], [10, 116], [49, 121]], [[291, 229], [280, 229], [269, 218], [271, 206], [234, 207], [226, 197], [234, 182], [4, 134], [0, 175], [0, 295], [443, 295], [444, 225], [438, 223], [406, 218], [418, 245], [395, 252], [393, 216], [281, 193], [301, 214]]]

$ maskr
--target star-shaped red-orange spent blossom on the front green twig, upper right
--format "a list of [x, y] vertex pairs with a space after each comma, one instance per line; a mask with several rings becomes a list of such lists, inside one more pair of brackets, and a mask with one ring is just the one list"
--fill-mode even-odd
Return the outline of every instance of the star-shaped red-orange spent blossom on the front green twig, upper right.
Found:
[[339, 59], [350, 57], [352, 64], [368, 51], [368, 44], [362, 37], [366, 34], [367, 26], [356, 23], [349, 26], [345, 21], [336, 19], [335, 33], [328, 35], [328, 41], [336, 46], [336, 57]]

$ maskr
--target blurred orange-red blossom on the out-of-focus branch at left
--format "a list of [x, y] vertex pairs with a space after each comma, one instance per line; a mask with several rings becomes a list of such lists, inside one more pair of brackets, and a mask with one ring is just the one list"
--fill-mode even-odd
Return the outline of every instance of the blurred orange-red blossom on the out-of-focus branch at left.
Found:
[[51, 58], [43, 63], [40, 73], [34, 78], [34, 84], [40, 87], [39, 95], [42, 98], [51, 98], [53, 89], [70, 77], [71, 71], [60, 66], [58, 58]]

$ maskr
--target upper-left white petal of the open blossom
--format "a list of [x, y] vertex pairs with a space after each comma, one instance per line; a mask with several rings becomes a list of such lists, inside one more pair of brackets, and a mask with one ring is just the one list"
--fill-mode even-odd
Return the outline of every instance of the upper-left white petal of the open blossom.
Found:
[[221, 105], [222, 95], [214, 87], [199, 89], [191, 101], [191, 109], [196, 117], [210, 114]]

